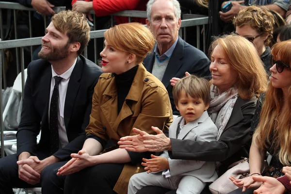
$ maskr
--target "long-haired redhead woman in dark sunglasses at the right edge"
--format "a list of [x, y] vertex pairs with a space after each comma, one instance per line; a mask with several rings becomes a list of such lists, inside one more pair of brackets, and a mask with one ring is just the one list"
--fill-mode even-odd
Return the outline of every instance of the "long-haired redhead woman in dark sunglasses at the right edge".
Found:
[[[257, 102], [252, 128], [256, 129], [250, 148], [250, 177], [235, 179], [230, 177], [239, 189], [231, 194], [283, 194], [291, 192], [288, 177], [283, 166], [291, 166], [291, 40], [275, 44], [272, 49], [270, 71], [272, 73], [266, 93]], [[252, 130], [252, 129], [251, 129]], [[269, 169], [261, 174], [266, 152], [273, 155]], [[256, 178], [253, 178], [256, 176]], [[258, 178], [267, 176], [271, 178]], [[277, 178], [277, 179], [275, 179]], [[264, 184], [262, 184], [264, 181]], [[273, 185], [273, 186], [271, 186]], [[275, 187], [274, 187], [275, 186]], [[272, 191], [272, 188], [276, 190]], [[256, 190], [257, 189], [257, 190]], [[285, 191], [286, 189], [286, 191]]]

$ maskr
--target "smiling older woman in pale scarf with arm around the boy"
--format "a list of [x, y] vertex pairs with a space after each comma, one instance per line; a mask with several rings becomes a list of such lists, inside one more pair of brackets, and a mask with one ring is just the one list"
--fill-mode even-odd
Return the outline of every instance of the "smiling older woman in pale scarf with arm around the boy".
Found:
[[[266, 90], [267, 74], [253, 44], [241, 36], [231, 34], [218, 38], [211, 50], [212, 86], [208, 113], [218, 128], [217, 141], [177, 140], [167, 138], [161, 130], [156, 130], [158, 135], [147, 135], [134, 129], [147, 141], [137, 141], [140, 140], [138, 135], [127, 136], [121, 138], [118, 144], [123, 146], [120, 147], [139, 152], [171, 150], [171, 159], [222, 161], [219, 176], [231, 163], [248, 157], [245, 144], [251, 138], [251, 120], [256, 100]], [[171, 80], [173, 85], [177, 81], [177, 78]], [[149, 192], [145, 187], [138, 194], [154, 194], [153, 191], [157, 190]], [[205, 192], [209, 190], [202, 193]]]

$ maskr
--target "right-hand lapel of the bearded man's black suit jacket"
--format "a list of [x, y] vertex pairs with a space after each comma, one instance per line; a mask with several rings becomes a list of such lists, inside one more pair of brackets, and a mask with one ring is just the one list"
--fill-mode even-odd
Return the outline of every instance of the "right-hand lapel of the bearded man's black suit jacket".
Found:
[[72, 110], [75, 104], [75, 99], [78, 94], [78, 90], [80, 87], [80, 79], [83, 69], [83, 62], [78, 57], [77, 63], [72, 71], [70, 76], [70, 80], [68, 83], [68, 88], [65, 95], [65, 110], [64, 110], [64, 120], [65, 120], [65, 129], [68, 129], [68, 124], [72, 115]]

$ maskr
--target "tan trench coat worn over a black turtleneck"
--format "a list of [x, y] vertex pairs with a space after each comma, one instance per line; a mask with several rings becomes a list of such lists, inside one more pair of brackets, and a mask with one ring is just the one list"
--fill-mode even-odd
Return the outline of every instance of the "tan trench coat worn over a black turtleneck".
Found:
[[[154, 133], [151, 126], [168, 130], [173, 121], [167, 90], [142, 64], [138, 66], [119, 114], [113, 74], [104, 73], [99, 77], [92, 102], [92, 113], [86, 132], [106, 141], [112, 139], [117, 142], [121, 137], [135, 135], [132, 128], [149, 134]], [[126, 163], [113, 190], [118, 194], [127, 194], [129, 178], [139, 172], [144, 172], [141, 164]]]

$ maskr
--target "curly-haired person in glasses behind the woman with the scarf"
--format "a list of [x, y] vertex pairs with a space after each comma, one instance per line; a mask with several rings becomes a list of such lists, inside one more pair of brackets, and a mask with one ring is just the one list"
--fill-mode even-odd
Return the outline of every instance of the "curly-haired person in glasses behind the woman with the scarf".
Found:
[[248, 39], [256, 47], [260, 59], [269, 73], [271, 49], [274, 28], [274, 16], [263, 6], [249, 6], [239, 12], [234, 18], [235, 33]]

